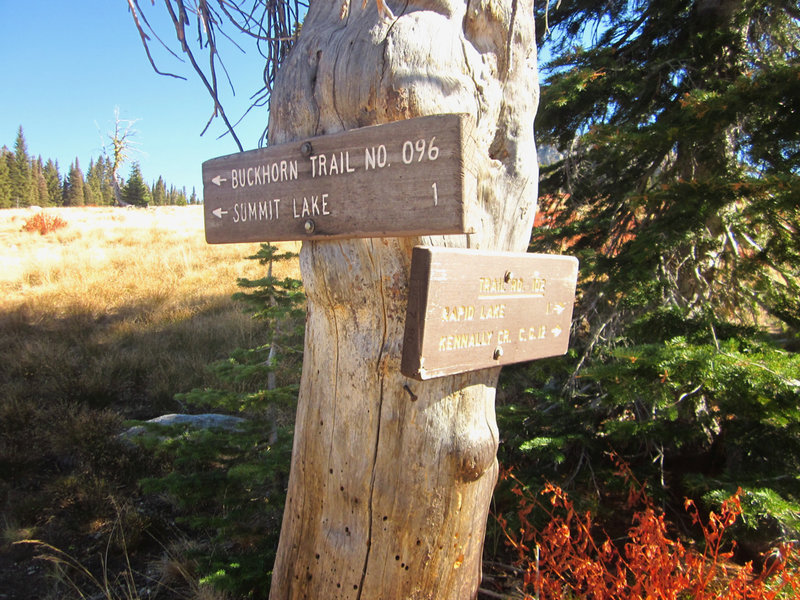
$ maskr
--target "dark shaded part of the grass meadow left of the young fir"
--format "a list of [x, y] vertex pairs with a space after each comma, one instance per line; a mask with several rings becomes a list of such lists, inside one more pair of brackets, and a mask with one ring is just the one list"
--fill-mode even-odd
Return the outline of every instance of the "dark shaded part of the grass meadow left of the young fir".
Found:
[[0, 314], [0, 557], [30, 565], [10, 550], [25, 531], [88, 560], [114, 523], [128, 550], [152, 545], [172, 517], [137, 481], [163, 465], [119, 438], [124, 421], [179, 411], [176, 393], [259, 334], [228, 296]]

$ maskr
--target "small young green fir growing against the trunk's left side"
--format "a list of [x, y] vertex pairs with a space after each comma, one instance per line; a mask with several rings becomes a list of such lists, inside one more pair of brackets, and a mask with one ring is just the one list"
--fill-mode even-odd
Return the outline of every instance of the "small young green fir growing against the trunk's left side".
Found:
[[266, 325], [267, 340], [212, 364], [217, 385], [176, 396], [192, 410], [235, 414], [235, 429], [152, 428], [140, 443], [165, 464], [143, 479], [146, 493], [174, 506], [177, 522], [204, 543], [189, 551], [203, 585], [262, 598], [277, 549], [288, 482], [292, 423], [302, 363], [304, 296], [300, 282], [272, 276], [272, 263], [293, 255], [263, 245], [253, 257], [265, 278], [241, 280], [236, 295]]

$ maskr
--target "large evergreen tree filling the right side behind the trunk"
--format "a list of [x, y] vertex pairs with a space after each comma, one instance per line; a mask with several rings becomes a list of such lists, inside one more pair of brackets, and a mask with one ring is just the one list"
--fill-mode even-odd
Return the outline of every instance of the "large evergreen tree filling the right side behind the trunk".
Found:
[[797, 5], [564, 0], [546, 22], [537, 129], [560, 158], [532, 248], [580, 258], [580, 326], [576, 356], [529, 368], [548, 411], [514, 413], [517, 447], [540, 468], [577, 452], [577, 473], [610, 445], [665, 492], [742, 486], [794, 535]]

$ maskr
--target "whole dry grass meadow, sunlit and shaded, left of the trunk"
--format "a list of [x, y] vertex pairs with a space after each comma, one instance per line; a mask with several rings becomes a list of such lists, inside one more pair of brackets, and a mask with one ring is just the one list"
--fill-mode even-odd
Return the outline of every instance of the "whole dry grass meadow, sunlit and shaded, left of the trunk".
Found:
[[[153, 466], [120, 447], [125, 420], [180, 412], [174, 395], [211, 384], [209, 363], [265, 336], [231, 299], [237, 278], [265, 275], [246, 258], [259, 245], [207, 245], [202, 207], [48, 208], [65, 227], [23, 231], [39, 210], [0, 211], [4, 599], [52, 597], [15, 541], [94, 560], [93, 536], [146, 529], [131, 490]], [[296, 262], [277, 269], [299, 278]]]

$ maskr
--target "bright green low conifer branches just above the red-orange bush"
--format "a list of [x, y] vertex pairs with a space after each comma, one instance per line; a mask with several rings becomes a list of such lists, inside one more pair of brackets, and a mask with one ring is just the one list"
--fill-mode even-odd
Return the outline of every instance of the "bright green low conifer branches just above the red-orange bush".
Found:
[[613, 451], [676, 512], [684, 496], [712, 509], [741, 487], [731, 532], [743, 545], [800, 533], [800, 355], [753, 328], [663, 311], [574, 369], [568, 356], [501, 377], [501, 460], [531, 485], [581, 487], [575, 501], [593, 507], [618, 487]]

